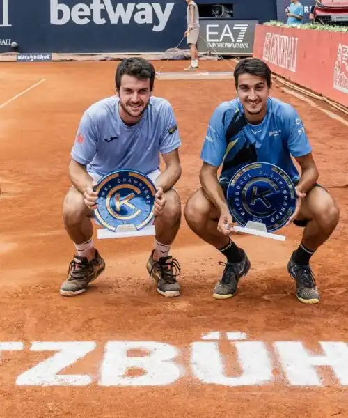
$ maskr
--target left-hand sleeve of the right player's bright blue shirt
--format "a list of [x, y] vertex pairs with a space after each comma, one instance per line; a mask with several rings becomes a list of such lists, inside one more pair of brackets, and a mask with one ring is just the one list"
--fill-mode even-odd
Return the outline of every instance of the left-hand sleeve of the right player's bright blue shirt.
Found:
[[226, 152], [225, 129], [223, 127], [223, 111], [216, 107], [207, 127], [200, 158], [207, 164], [220, 167]]

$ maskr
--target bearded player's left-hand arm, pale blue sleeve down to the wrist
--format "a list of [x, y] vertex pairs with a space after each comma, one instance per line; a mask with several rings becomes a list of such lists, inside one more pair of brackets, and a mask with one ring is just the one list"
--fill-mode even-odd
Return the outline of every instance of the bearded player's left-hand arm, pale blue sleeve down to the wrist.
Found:
[[68, 175], [72, 185], [84, 193], [93, 183], [93, 178], [86, 171], [86, 166], [97, 152], [97, 134], [91, 117], [85, 112], [79, 123], [77, 135], [71, 150]]

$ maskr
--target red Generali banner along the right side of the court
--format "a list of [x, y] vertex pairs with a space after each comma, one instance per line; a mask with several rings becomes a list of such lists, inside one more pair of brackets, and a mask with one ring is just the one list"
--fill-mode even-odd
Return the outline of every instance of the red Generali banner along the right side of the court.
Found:
[[348, 107], [348, 33], [258, 24], [254, 39], [272, 72]]

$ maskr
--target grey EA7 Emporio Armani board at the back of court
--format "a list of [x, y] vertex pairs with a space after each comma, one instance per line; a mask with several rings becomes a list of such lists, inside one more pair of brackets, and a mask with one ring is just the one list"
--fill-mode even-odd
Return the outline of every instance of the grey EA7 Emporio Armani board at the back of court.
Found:
[[198, 51], [251, 55], [258, 20], [200, 19]]

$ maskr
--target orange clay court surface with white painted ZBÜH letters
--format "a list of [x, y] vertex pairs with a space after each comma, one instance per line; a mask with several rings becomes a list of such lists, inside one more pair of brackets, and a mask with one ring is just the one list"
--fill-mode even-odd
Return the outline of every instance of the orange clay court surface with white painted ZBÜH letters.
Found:
[[[285, 242], [237, 235], [251, 272], [218, 301], [223, 258], [184, 219], [172, 249], [180, 297], [162, 297], [148, 278], [152, 237], [95, 237], [106, 271], [83, 295], [59, 294], [74, 254], [62, 222], [70, 148], [86, 107], [113, 94], [116, 65], [1, 63], [0, 106], [45, 81], [0, 107], [0, 417], [347, 417], [348, 128], [280, 87], [272, 94], [299, 111], [319, 181], [340, 205], [338, 229], [313, 257], [319, 304], [296, 300], [287, 274], [301, 229], [283, 229]], [[184, 207], [209, 117], [235, 88], [156, 80], [154, 94], [177, 115]]]

